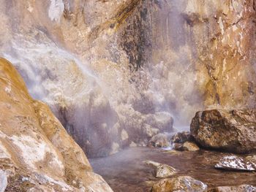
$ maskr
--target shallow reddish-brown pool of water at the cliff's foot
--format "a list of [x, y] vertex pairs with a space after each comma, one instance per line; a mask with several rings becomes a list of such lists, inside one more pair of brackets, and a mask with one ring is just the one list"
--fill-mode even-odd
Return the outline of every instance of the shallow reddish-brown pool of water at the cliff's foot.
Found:
[[256, 185], [256, 172], [227, 172], [214, 169], [222, 155], [214, 151], [163, 151], [157, 148], [133, 147], [106, 158], [90, 159], [94, 171], [101, 174], [113, 191], [150, 191], [159, 179], [143, 161], [157, 161], [178, 169], [177, 175], [189, 175], [210, 188], [220, 185]]

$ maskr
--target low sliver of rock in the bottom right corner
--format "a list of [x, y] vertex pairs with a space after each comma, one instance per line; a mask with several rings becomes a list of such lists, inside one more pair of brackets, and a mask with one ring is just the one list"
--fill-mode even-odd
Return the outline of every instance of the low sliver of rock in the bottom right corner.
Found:
[[252, 185], [238, 185], [212, 188], [209, 192], [255, 192], [256, 187]]

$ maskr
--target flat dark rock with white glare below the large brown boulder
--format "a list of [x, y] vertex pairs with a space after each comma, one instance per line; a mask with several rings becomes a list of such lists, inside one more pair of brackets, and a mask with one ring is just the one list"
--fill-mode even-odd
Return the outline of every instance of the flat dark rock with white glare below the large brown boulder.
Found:
[[233, 171], [255, 171], [256, 164], [236, 155], [227, 155], [215, 165], [215, 168]]

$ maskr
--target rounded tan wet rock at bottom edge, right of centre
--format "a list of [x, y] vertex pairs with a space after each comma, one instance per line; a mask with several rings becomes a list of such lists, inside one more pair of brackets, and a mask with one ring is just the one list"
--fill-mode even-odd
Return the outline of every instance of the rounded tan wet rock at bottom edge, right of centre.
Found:
[[206, 192], [207, 185], [189, 176], [179, 176], [171, 179], [160, 180], [153, 185], [152, 192]]

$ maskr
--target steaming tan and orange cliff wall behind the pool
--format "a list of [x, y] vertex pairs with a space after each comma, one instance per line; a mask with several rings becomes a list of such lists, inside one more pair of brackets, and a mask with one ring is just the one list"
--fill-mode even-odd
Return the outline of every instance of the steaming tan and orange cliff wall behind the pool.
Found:
[[[1, 55], [90, 156], [255, 107], [255, 1], [1, 0]], [[164, 122], [164, 123], [163, 123]]]

